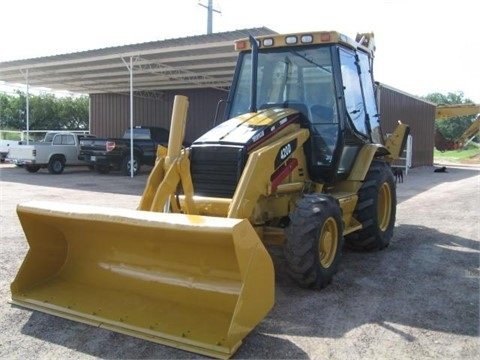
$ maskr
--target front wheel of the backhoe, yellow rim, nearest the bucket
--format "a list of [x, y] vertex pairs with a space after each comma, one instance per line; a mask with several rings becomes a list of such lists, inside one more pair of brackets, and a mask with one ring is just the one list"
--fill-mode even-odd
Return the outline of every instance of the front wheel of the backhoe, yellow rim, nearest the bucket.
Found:
[[296, 205], [285, 229], [288, 272], [301, 287], [322, 289], [332, 282], [341, 261], [342, 209], [325, 194], [305, 195]]

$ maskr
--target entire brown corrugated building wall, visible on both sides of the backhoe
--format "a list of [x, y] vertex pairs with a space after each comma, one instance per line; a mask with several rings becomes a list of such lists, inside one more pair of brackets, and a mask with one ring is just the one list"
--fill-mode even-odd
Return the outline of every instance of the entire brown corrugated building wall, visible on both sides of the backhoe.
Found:
[[[212, 128], [217, 104], [227, 98], [226, 91], [217, 89], [162, 91], [157, 95], [134, 97], [133, 125], [169, 129], [175, 95], [184, 95], [189, 98], [185, 130], [189, 142]], [[379, 86], [377, 95], [383, 132], [392, 133], [398, 120], [410, 125], [412, 166], [433, 165], [435, 104], [386, 85]], [[130, 125], [129, 94], [92, 94], [90, 99], [91, 132], [100, 137], [122, 136]]]

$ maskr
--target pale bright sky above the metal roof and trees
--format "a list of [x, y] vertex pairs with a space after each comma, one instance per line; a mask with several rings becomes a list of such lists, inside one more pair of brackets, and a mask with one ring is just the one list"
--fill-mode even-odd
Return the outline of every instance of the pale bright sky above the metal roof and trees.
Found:
[[[203, 35], [200, 4], [208, 0], [5, 0], [0, 62]], [[376, 81], [415, 96], [462, 92], [480, 103], [473, 0], [213, 0], [213, 7], [213, 32], [264, 26], [353, 39], [374, 32]]]

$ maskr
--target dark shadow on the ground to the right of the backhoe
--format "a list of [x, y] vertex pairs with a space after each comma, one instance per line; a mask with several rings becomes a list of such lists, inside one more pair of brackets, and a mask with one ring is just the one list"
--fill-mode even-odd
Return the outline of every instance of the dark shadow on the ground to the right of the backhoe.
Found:
[[401, 225], [382, 251], [345, 249], [334, 283], [315, 292], [296, 287], [279, 251], [277, 303], [260, 331], [339, 338], [374, 323], [477, 337], [479, 254], [478, 241]]

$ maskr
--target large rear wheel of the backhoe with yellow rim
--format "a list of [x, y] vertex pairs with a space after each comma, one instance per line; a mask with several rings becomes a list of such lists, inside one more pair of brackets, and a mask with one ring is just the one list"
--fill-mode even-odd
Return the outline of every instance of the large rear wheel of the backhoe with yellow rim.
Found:
[[381, 250], [393, 237], [397, 208], [395, 178], [389, 164], [374, 160], [358, 191], [353, 216], [363, 228], [345, 237], [355, 250]]

